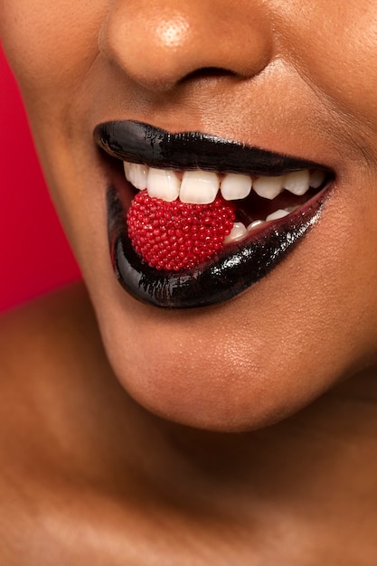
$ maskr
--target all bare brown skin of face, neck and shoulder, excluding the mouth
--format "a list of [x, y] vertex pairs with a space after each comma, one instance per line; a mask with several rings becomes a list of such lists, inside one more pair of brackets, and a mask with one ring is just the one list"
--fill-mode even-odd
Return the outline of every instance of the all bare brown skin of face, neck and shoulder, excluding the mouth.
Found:
[[[375, 563], [376, 14], [367, 0], [0, 0], [90, 296], [0, 323], [2, 563]], [[92, 131], [110, 119], [325, 163], [332, 197], [240, 297], [141, 305], [108, 257]]]

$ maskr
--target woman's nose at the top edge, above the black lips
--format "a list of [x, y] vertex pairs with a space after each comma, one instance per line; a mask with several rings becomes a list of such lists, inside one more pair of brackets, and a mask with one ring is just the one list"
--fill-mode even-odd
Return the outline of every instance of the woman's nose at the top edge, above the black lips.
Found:
[[257, 75], [271, 61], [262, 0], [113, 0], [101, 51], [147, 90], [169, 90], [197, 72]]

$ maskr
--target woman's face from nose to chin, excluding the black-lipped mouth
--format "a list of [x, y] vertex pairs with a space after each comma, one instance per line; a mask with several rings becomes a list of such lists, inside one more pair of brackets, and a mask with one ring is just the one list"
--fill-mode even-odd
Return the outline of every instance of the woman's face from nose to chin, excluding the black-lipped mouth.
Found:
[[[252, 429], [374, 362], [375, 0], [0, 0], [0, 31], [108, 359], [137, 401], [193, 426]], [[231, 300], [144, 304], [108, 252], [108, 185], [131, 194], [93, 141], [109, 120], [314, 161], [330, 172], [325, 203]]]

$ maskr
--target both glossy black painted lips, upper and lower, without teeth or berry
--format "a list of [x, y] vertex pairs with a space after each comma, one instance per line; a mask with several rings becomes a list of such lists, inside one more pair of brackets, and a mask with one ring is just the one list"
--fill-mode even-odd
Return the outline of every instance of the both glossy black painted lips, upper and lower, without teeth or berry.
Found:
[[[300, 169], [328, 169], [312, 161], [282, 156], [202, 133], [170, 134], [135, 121], [107, 122], [95, 128], [100, 147], [118, 159], [177, 170], [284, 175]], [[277, 222], [263, 225], [245, 240], [227, 246], [196, 269], [164, 272], [137, 255], [127, 235], [127, 199], [118, 186], [108, 188], [108, 238], [118, 281], [133, 297], [156, 307], [216, 305], [266, 276], [319, 218], [325, 190]]]

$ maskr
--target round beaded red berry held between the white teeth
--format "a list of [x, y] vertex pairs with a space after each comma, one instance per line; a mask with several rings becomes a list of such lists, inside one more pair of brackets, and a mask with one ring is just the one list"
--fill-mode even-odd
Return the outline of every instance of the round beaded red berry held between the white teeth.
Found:
[[134, 250], [156, 269], [191, 269], [221, 250], [235, 206], [217, 196], [211, 204], [166, 203], [137, 193], [127, 213]]

